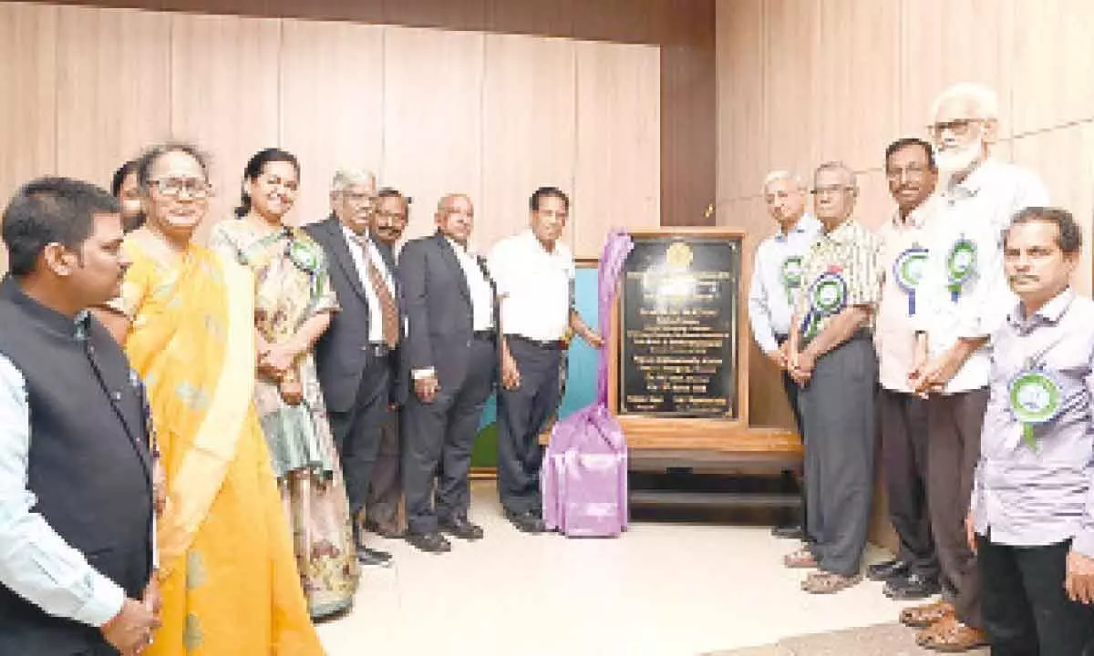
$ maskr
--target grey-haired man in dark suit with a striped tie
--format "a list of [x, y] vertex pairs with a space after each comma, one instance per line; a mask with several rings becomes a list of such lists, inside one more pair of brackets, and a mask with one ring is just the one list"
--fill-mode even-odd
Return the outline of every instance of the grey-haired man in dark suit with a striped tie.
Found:
[[341, 458], [357, 555], [364, 564], [387, 565], [391, 554], [365, 547], [361, 536], [401, 332], [394, 258], [369, 234], [375, 202], [375, 176], [339, 171], [331, 184], [330, 216], [304, 230], [327, 254], [341, 306], [315, 344], [315, 363]]

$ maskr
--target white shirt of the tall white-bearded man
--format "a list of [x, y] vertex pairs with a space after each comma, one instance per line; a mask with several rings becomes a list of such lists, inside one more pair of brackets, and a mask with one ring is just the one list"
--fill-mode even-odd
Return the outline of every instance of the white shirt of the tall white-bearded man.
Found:
[[[1003, 325], [1016, 298], [1003, 272], [1002, 233], [1014, 214], [1032, 206], [1047, 206], [1048, 191], [1031, 171], [988, 160], [964, 181], [941, 195], [939, 213], [929, 231], [927, 267], [919, 285], [916, 330], [927, 333], [928, 355], [938, 358], [958, 339], [990, 337]], [[957, 239], [976, 245], [976, 271], [954, 301], [946, 259]], [[943, 394], [988, 386], [991, 372], [986, 344], [965, 361]]]

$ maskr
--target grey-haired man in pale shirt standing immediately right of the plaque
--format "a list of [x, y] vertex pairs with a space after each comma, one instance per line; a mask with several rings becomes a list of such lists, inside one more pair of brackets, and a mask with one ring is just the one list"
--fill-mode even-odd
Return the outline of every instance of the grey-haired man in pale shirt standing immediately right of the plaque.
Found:
[[[748, 323], [760, 351], [782, 372], [782, 387], [794, 413], [798, 433], [804, 437], [798, 403], [798, 384], [787, 373], [784, 344], [790, 336], [794, 294], [801, 283], [802, 258], [821, 232], [821, 223], [805, 211], [805, 185], [787, 171], [772, 171], [764, 178], [764, 202], [779, 231], [756, 247], [748, 286]], [[804, 443], [804, 441], [803, 441]], [[780, 538], [805, 539], [805, 484], [801, 483], [802, 519], [776, 526]]]

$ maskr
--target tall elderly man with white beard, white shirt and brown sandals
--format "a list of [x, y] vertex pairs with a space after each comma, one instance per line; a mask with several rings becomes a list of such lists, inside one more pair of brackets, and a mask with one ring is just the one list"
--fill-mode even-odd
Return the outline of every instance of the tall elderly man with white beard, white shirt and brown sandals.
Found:
[[923, 628], [921, 646], [951, 653], [985, 643], [976, 557], [964, 519], [988, 402], [988, 338], [1015, 303], [1003, 273], [1002, 234], [1020, 210], [1048, 204], [1036, 174], [990, 157], [998, 105], [991, 90], [956, 84], [934, 101], [929, 128], [942, 202], [917, 288], [922, 311], [913, 321], [909, 382], [928, 398], [927, 495], [943, 598], [906, 609], [900, 620]]

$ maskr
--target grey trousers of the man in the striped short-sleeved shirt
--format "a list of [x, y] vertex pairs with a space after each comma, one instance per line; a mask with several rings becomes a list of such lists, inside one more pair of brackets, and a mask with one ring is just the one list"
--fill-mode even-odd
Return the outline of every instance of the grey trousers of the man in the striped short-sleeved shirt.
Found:
[[810, 500], [806, 534], [819, 569], [858, 574], [870, 526], [877, 360], [866, 331], [817, 360], [799, 396]]

